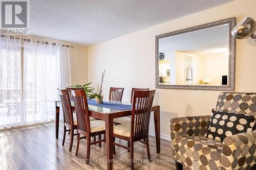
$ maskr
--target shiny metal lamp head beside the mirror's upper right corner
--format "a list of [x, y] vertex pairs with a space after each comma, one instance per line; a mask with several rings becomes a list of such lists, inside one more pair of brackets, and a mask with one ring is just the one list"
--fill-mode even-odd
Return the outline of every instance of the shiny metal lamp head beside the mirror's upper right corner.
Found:
[[231, 34], [234, 38], [245, 39], [251, 37], [256, 41], [256, 21], [250, 17], [245, 17], [241, 20], [236, 27], [231, 31]]

